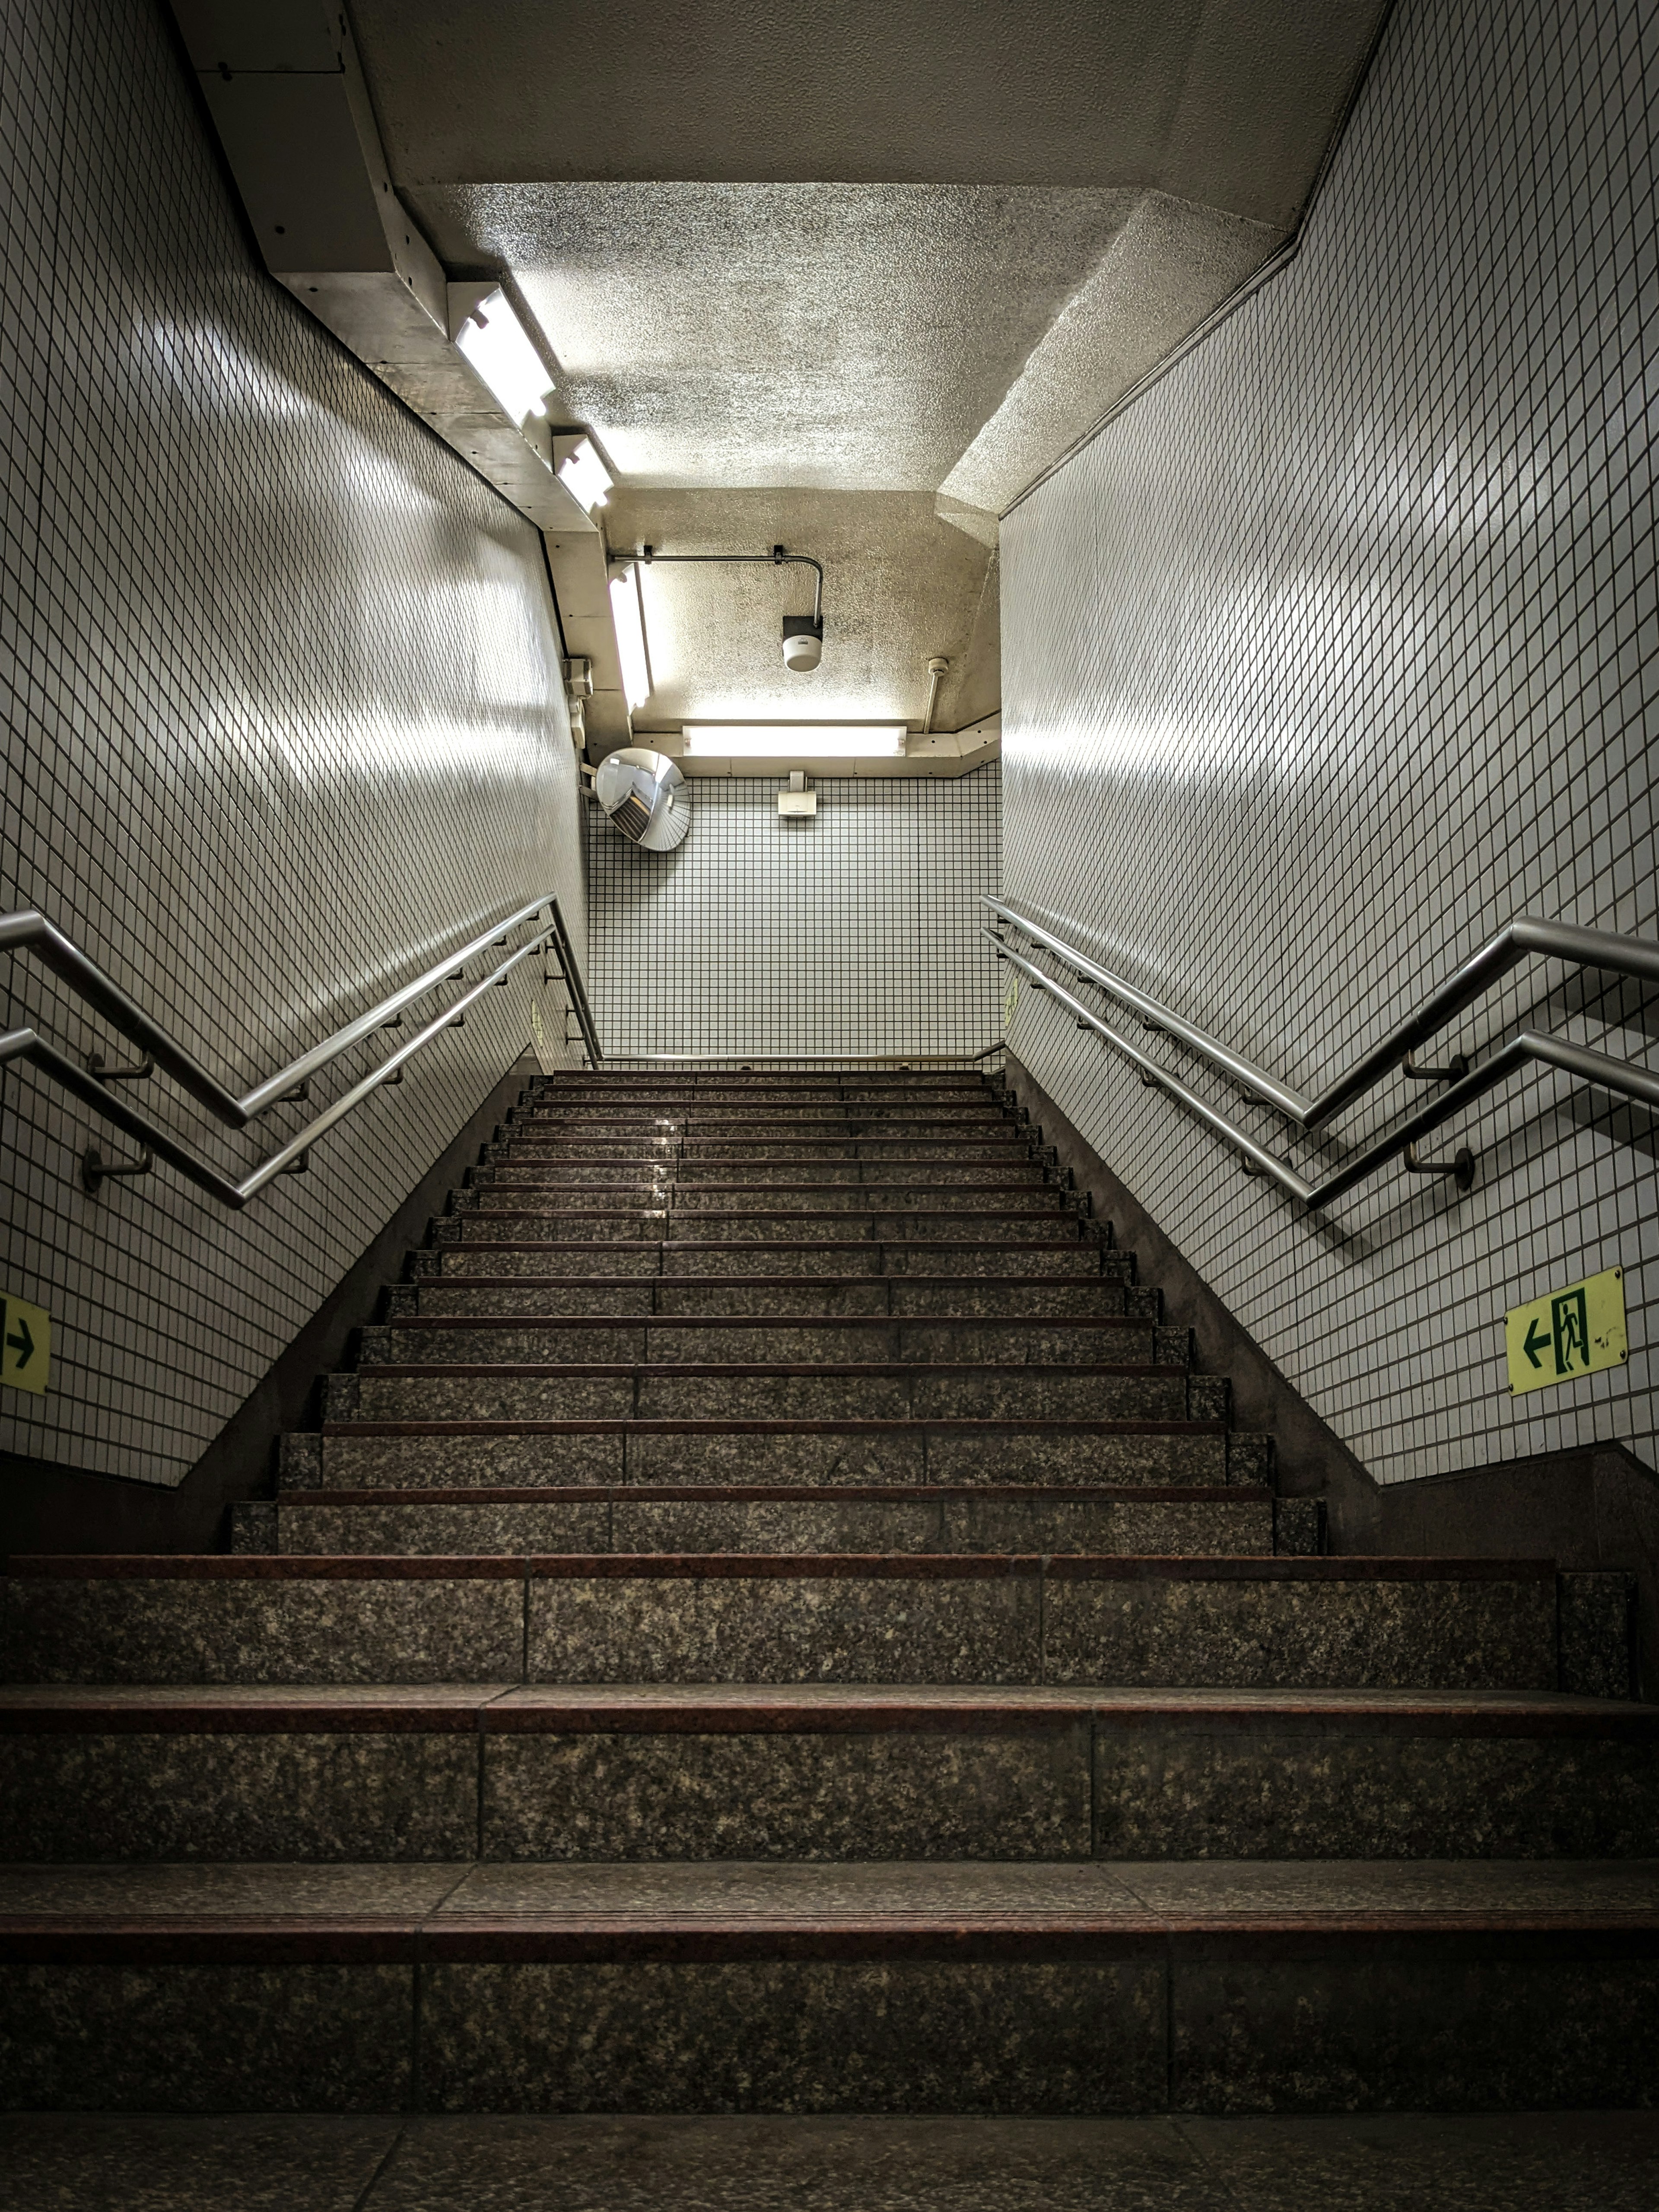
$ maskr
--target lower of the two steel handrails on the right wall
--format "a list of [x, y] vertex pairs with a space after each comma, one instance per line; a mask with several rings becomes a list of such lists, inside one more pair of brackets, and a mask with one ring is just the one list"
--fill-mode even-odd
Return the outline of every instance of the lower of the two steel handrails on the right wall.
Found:
[[[987, 905], [991, 905], [991, 900], [987, 900]], [[1022, 922], [1020, 927], [1029, 925]], [[1553, 927], [1553, 925], [1537, 925], [1537, 927]], [[1334, 1199], [1345, 1197], [1349, 1190], [1354, 1190], [1356, 1183], [1363, 1183], [1367, 1177], [1376, 1175], [1378, 1168], [1385, 1168], [1391, 1159], [1398, 1159], [1405, 1152], [1409, 1152], [1420, 1137], [1429, 1135], [1429, 1130], [1451, 1121], [1473, 1099], [1482, 1097], [1486, 1091], [1495, 1091], [1498, 1084], [1509, 1082], [1509, 1077], [1515, 1075], [1522, 1066], [1526, 1066], [1526, 1062], [1542, 1062], [1546, 1066], [1564, 1068], [1568, 1075], [1577, 1075], [1582, 1082], [1599, 1084], [1606, 1091], [1617, 1091], [1621, 1097], [1641, 1099], [1648, 1106], [1659, 1106], [1659, 1075], [1655, 1075], [1652, 1071], [1641, 1068], [1628, 1060], [1610, 1060], [1606, 1053], [1590, 1053], [1579, 1044], [1566, 1044], [1562, 1037], [1551, 1037], [1535, 1029], [1524, 1029], [1520, 1035], [1511, 1037], [1498, 1053], [1493, 1053], [1491, 1060], [1482, 1062], [1482, 1066], [1473, 1068], [1469, 1075], [1462, 1075], [1447, 1091], [1442, 1091], [1438, 1099], [1429, 1099], [1416, 1113], [1407, 1115], [1407, 1119], [1400, 1121], [1396, 1128], [1391, 1128], [1385, 1137], [1374, 1139], [1352, 1159], [1343, 1161], [1343, 1166], [1336, 1168], [1332, 1175], [1323, 1177], [1318, 1183], [1310, 1183], [1287, 1161], [1279, 1159], [1274, 1152], [1261, 1146], [1248, 1130], [1239, 1128], [1237, 1121], [1230, 1121], [1228, 1115], [1223, 1115], [1206, 1097], [1199, 1097], [1199, 1093], [1192, 1091], [1188, 1084], [1183, 1084], [1179, 1075], [1175, 1075], [1170, 1068], [1152, 1060], [1146, 1051], [1141, 1051], [1139, 1044], [1133, 1044], [1128, 1037], [1124, 1037], [1117, 1029], [1110, 1026], [1110, 1022], [1104, 1022], [1091, 1006], [1084, 1006], [1084, 1002], [1075, 998], [1071, 991], [1066, 991], [1064, 984], [1055, 982], [1053, 975], [1044, 975], [1044, 971], [1033, 960], [1026, 960], [1024, 953], [1018, 953], [1011, 945], [998, 938], [995, 931], [982, 929], [980, 936], [989, 938], [991, 945], [998, 947], [1004, 960], [1009, 960], [1022, 973], [1031, 975], [1033, 984], [1040, 991], [1048, 993], [1060, 1006], [1064, 1006], [1079, 1024], [1079, 1029], [1097, 1031], [1097, 1035], [1102, 1035], [1106, 1044], [1115, 1046], [1126, 1060], [1130, 1060], [1141, 1071], [1148, 1084], [1152, 1084], [1159, 1091], [1168, 1091], [1168, 1095], [1179, 1106], [1183, 1106], [1194, 1119], [1203, 1121], [1203, 1126], [1210, 1128], [1217, 1137], [1221, 1137], [1223, 1144], [1234, 1148], [1248, 1164], [1248, 1172], [1270, 1177], [1270, 1181], [1279, 1183], [1279, 1188], [1285, 1190], [1292, 1199], [1298, 1199], [1303, 1206], [1310, 1208], [1323, 1208], [1329, 1206]], [[1601, 931], [1584, 931], [1584, 936], [1601, 936]], [[1048, 931], [1044, 931], [1044, 938], [1048, 938]], [[1615, 942], [1641, 945], [1644, 940], [1615, 940]], [[1655, 947], [1655, 951], [1659, 951], [1659, 947]], [[1066, 947], [1066, 958], [1073, 962], [1073, 967], [1079, 964], [1079, 956], [1075, 956], [1071, 947]], [[1509, 964], [1513, 967], [1515, 962], [1511, 960]], [[1473, 967], [1473, 962], [1469, 962], [1467, 967]], [[1458, 973], [1462, 975], [1467, 973], [1467, 969], [1460, 969]], [[1168, 1026], [1175, 1029], [1175, 1024]], [[1425, 1031], [1422, 1035], [1429, 1035], [1429, 1031]], [[1413, 1037], [1411, 1042], [1420, 1042], [1420, 1037]]]

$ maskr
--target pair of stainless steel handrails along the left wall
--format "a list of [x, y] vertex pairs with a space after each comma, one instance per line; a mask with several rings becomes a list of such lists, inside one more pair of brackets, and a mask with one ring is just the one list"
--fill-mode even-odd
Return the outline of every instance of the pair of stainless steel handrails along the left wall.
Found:
[[[407, 1037], [387, 1060], [352, 1084], [349, 1091], [343, 1091], [332, 1106], [325, 1106], [323, 1113], [314, 1115], [303, 1130], [261, 1159], [259, 1166], [254, 1166], [239, 1181], [221, 1175], [204, 1159], [197, 1159], [186, 1144], [173, 1137], [146, 1113], [139, 1113], [137, 1106], [128, 1106], [126, 1099], [113, 1095], [97, 1075], [77, 1066], [35, 1029], [13, 1029], [0, 1035], [0, 1064], [11, 1060], [31, 1062], [60, 1088], [77, 1097], [82, 1106], [91, 1106], [93, 1113], [113, 1121], [115, 1128], [135, 1137], [150, 1152], [155, 1152], [157, 1159], [166, 1159], [168, 1166], [177, 1168], [177, 1172], [195, 1183], [197, 1190], [206, 1190], [206, 1194], [219, 1199], [221, 1206], [241, 1210], [270, 1181], [274, 1181], [274, 1177], [301, 1172], [305, 1168], [305, 1157], [319, 1137], [325, 1137], [338, 1121], [354, 1113], [363, 1099], [369, 1097], [369, 1093], [378, 1091], [387, 1082], [398, 1082], [405, 1062], [422, 1053], [440, 1031], [458, 1029], [467, 1009], [480, 1000], [491, 984], [504, 984], [522, 960], [529, 960], [533, 953], [544, 949], [544, 942], [560, 964], [560, 980], [571, 998], [588, 1057], [595, 1066], [599, 1066], [604, 1053], [599, 1051], [593, 1013], [588, 1009], [586, 991], [582, 989], [582, 975], [575, 964], [571, 936], [564, 927], [564, 914], [560, 911], [557, 898], [551, 894], [542, 896], [531, 905], [520, 907], [518, 914], [509, 916], [504, 922], [491, 925], [484, 936], [471, 938], [465, 947], [451, 951], [438, 967], [380, 1000], [380, 1004], [369, 1009], [369, 1013], [358, 1015], [354, 1022], [347, 1022], [345, 1029], [334, 1031], [332, 1037], [325, 1037], [307, 1053], [301, 1053], [299, 1060], [290, 1062], [288, 1068], [272, 1075], [268, 1082], [257, 1084], [243, 1099], [232, 1097], [223, 1084], [219, 1084], [184, 1046], [155, 1024], [144, 1009], [119, 989], [119, 984], [111, 982], [111, 978], [104, 975], [104, 971], [95, 967], [60, 929], [46, 922], [44, 916], [35, 911], [0, 916], [0, 951], [27, 947], [40, 953], [53, 973], [62, 975], [71, 989], [84, 998], [86, 1004], [95, 1006], [113, 1029], [119, 1029], [135, 1044], [142, 1044], [155, 1064], [173, 1075], [181, 1088], [217, 1113], [219, 1119], [230, 1121], [234, 1128], [246, 1128], [257, 1113], [274, 1106], [279, 1097], [303, 1097], [303, 1084], [310, 1075], [336, 1060], [349, 1044], [361, 1042], [376, 1029], [385, 1029], [392, 1018], [403, 1011], [403, 1006], [420, 998], [422, 991], [434, 989], [436, 982], [458, 980], [460, 967], [473, 953], [484, 947], [502, 945], [515, 925], [529, 920], [531, 916], [540, 916], [542, 907], [551, 909], [551, 929], [546, 931], [546, 938], [538, 931], [529, 945], [520, 945], [518, 951], [498, 960], [487, 975], [471, 984], [471, 989], [467, 989], [458, 1000], [451, 1000], [451, 1004], [447, 1004], [442, 1013], [434, 1015], [425, 1029], [416, 1031], [414, 1037]], [[13, 929], [9, 925], [18, 927]], [[296, 1088], [296, 1084], [301, 1088]]]

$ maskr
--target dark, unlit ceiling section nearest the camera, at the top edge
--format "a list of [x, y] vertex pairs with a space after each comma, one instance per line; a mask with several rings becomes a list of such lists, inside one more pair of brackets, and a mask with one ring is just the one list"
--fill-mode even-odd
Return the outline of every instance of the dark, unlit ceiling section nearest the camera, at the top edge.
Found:
[[1380, 0], [354, 0], [400, 186], [1093, 184], [1287, 223]]

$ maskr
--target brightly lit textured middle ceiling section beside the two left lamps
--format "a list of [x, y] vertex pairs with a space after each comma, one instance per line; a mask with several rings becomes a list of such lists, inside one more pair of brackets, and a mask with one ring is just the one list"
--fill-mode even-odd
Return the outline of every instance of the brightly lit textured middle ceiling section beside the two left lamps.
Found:
[[409, 197], [447, 261], [513, 270], [555, 411], [626, 480], [872, 491], [938, 489], [1135, 208], [905, 184]]

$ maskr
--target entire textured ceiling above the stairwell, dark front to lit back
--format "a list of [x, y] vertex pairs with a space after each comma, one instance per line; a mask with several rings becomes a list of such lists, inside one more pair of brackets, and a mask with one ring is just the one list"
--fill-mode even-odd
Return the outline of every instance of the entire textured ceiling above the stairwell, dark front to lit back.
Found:
[[[918, 655], [960, 639], [960, 659], [984, 630], [995, 515], [1290, 234], [1385, 4], [352, 0], [352, 15], [398, 192], [451, 274], [511, 274], [555, 414], [588, 425], [619, 478], [613, 542], [823, 557], [834, 538], [830, 635], [836, 593], [863, 626], [836, 677], [825, 648], [814, 688], [874, 719], [916, 690]], [[918, 564], [936, 588], [898, 582]], [[887, 577], [905, 613], [878, 617], [854, 571]], [[748, 639], [757, 588], [712, 571], [672, 595], [710, 635]], [[639, 719], [737, 714], [745, 650], [688, 644]], [[982, 635], [975, 653], [984, 668]], [[783, 699], [830, 712], [774, 697], [781, 664], [745, 681], [748, 719]], [[969, 692], [978, 679], [956, 703]], [[945, 728], [951, 708], [947, 686]]]

